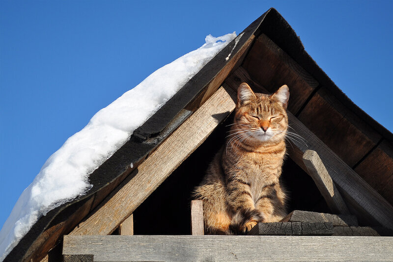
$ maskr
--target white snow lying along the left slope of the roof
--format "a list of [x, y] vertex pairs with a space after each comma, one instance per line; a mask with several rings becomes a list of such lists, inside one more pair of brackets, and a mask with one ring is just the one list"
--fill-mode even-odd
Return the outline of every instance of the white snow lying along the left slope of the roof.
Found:
[[203, 46], [155, 71], [98, 111], [83, 130], [68, 138], [45, 162], [4, 223], [0, 231], [0, 261], [41, 215], [85, 194], [91, 188], [88, 175], [235, 37], [235, 32], [206, 36]]

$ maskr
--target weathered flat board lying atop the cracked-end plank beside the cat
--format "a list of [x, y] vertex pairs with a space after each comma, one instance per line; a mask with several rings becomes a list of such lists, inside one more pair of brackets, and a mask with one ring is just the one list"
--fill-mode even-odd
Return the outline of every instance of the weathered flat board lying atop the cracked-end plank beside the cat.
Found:
[[358, 219], [354, 215], [335, 215], [301, 210], [290, 212], [281, 222], [331, 222], [333, 226], [343, 227], [358, 225]]

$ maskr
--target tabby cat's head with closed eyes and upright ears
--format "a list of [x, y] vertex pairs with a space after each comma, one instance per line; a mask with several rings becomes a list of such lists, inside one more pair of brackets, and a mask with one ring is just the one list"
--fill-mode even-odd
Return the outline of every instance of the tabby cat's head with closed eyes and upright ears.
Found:
[[255, 94], [247, 83], [242, 83], [237, 97], [236, 131], [254, 142], [284, 139], [288, 127], [288, 86], [281, 86], [272, 95], [264, 95]]

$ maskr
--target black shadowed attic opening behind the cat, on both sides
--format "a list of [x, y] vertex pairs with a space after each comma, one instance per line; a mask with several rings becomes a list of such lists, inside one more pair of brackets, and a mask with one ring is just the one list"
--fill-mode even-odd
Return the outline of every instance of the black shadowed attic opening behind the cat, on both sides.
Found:
[[[192, 191], [225, 143], [232, 119], [233, 113], [134, 211], [135, 235], [191, 235]], [[288, 212], [330, 212], [312, 179], [292, 159], [287, 157], [282, 170]]]

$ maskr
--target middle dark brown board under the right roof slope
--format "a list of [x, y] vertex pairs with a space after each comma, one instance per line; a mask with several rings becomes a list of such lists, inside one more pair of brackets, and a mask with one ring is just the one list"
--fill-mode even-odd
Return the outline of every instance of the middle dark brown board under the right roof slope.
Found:
[[320, 88], [314, 94], [298, 118], [351, 167], [381, 139], [380, 134], [342, 105], [326, 88]]

